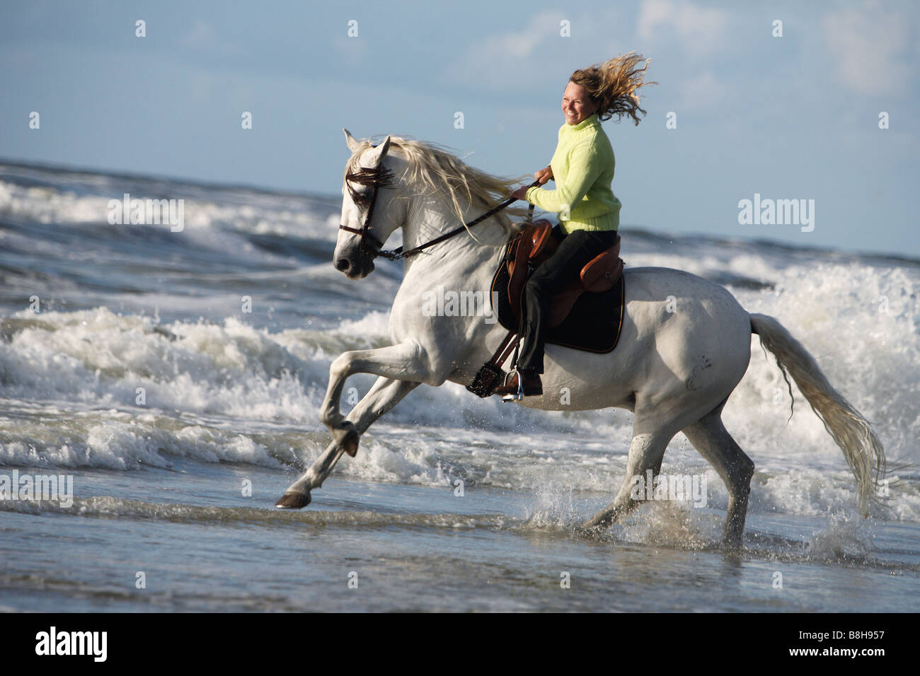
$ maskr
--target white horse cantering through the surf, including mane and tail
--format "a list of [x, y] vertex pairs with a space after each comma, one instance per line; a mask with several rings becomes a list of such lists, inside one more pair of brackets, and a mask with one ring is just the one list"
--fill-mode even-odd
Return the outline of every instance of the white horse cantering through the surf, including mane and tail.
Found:
[[[344, 131], [351, 158], [333, 262], [353, 280], [374, 269], [379, 247], [397, 228], [402, 228], [404, 248], [419, 246], [487, 211], [498, 195], [512, 191], [512, 181], [466, 166], [437, 146], [397, 136], [374, 146]], [[381, 183], [383, 177], [398, 178]], [[353, 455], [360, 435], [419, 384], [473, 381], [506, 330], [481, 316], [431, 316], [423, 312], [424, 299], [439, 285], [456, 292], [481, 291], [488, 298], [513, 230], [508, 216], [498, 213], [405, 258], [390, 316], [393, 345], [345, 352], [332, 362], [320, 414], [332, 442], [287, 488], [278, 507], [309, 504], [310, 491], [322, 485], [342, 453]], [[798, 340], [773, 317], [748, 314], [714, 282], [676, 269], [630, 268], [624, 274], [626, 309], [616, 349], [596, 354], [546, 345], [544, 395], [521, 402], [544, 410], [619, 407], [634, 414], [626, 477], [614, 502], [582, 529], [604, 528], [635, 508], [633, 477], [646, 476], [649, 470], [658, 475], [668, 442], [683, 431], [728, 488], [724, 543], [742, 544], [754, 464], [720, 416], [747, 370], [752, 334], [774, 354], [784, 377], [792, 376], [843, 450], [856, 476], [859, 509], [868, 515], [873, 483], [885, 468], [882, 446], [867, 420], [834, 390]], [[345, 417], [339, 411], [342, 389], [350, 375], [361, 372], [379, 378]], [[562, 388], [570, 393], [565, 405], [560, 403]]]

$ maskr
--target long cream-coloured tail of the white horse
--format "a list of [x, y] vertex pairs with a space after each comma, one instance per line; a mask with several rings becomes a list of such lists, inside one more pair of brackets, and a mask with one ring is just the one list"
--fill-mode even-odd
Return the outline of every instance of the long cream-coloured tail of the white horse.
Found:
[[818, 367], [818, 362], [785, 327], [768, 315], [750, 316], [751, 330], [760, 336], [761, 345], [776, 357], [789, 387], [789, 395], [792, 395], [792, 386], [787, 373], [821, 418], [824, 429], [844, 452], [846, 464], [857, 479], [859, 513], [863, 517], [868, 516], [868, 502], [876, 498], [873, 484], [885, 474], [887, 463], [879, 438], [868, 420], [834, 389]]

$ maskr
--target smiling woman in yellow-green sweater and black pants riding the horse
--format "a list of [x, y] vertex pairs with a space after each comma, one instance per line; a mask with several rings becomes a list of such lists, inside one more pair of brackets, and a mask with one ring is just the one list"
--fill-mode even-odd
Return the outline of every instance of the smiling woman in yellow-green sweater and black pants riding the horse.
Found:
[[[644, 65], [640, 65], [644, 63]], [[614, 178], [614, 151], [601, 120], [628, 115], [638, 124], [636, 91], [643, 82], [648, 60], [629, 52], [605, 63], [575, 71], [562, 94], [565, 124], [559, 128], [556, 153], [549, 166], [535, 172], [541, 185], [553, 178], [557, 189], [522, 187], [512, 193], [545, 212], [557, 212], [553, 228], [556, 252], [536, 269], [524, 286], [523, 345], [517, 372], [496, 389], [498, 395], [518, 392], [523, 379], [524, 396], [542, 395], [544, 319], [549, 299], [576, 279], [592, 258], [616, 243], [620, 201], [610, 188]]]

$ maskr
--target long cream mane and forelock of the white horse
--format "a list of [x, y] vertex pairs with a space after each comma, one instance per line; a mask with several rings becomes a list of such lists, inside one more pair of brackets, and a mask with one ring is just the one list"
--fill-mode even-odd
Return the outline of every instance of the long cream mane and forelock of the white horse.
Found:
[[[370, 139], [358, 141], [354, 152], [345, 164], [345, 186], [355, 176], [367, 172], [358, 160], [362, 153], [374, 146]], [[476, 167], [469, 166], [454, 155], [447, 147], [439, 143], [417, 141], [404, 136], [390, 135], [389, 153], [397, 152], [408, 163], [408, 169], [402, 178], [408, 179], [431, 193], [441, 195], [451, 207], [457, 218], [463, 222], [464, 212], [461, 206], [466, 201], [470, 206], [480, 206], [485, 212], [500, 201], [508, 198], [519, 183], [527, 177], [493, 176]], [[372, 169], [373, 171], [373, 169]], [[526, 208], [507, 207], [493, 216], [508, 232], [512, 230], [509, 216], [523, 217]]]

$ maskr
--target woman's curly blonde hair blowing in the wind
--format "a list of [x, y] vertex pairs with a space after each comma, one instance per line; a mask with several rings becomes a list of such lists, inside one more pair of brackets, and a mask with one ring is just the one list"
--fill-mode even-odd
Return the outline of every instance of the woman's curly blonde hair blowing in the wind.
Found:
[[636, 92], [641, 86], [658, 84], [643, 81], [649, 62], [650, 59], [643, 59], [641, 54], [629, 52], [604, 63], [580, 68], [569, 80], [588, 91], [592, 102], [597, 104], [599, 120], [610, 120], [615, 115], [619, 121], [628, 115], [638, 124], [638, 113], [645, 115], [645, 110], [639, 108]]

